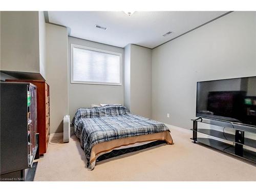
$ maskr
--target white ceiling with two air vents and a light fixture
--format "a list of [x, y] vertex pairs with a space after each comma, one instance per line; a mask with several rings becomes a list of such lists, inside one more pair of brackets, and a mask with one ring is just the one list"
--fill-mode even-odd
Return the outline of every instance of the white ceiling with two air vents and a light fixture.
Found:
[[[66, 26], [69, 35], [117, 47], [155, 48], [227, 11], [49, 11], [49, 22]], [[106, 30], [95, 28], [95, 25]], [[167, 36], [162, 36], [172, 31]]]

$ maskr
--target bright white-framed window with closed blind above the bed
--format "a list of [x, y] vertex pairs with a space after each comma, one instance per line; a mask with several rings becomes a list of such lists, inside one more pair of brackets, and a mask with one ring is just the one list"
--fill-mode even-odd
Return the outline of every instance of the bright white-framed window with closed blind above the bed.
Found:
[[121, 86], [121, 56], [71, 44], [71, 83]]

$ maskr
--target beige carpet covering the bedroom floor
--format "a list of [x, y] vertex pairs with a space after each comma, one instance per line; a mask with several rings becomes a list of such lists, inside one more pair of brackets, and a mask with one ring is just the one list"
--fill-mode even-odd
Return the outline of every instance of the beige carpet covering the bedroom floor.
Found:
[[[194, 144], [191, 133], [171, 129], [175, 144], [159, 145], [96, 163], [87, 160], [73, 135], [50, 144], [38, 160], [35, 181], [256, 181], [254, 164]], [[56, 140], [52, 140], [56, 142]]]

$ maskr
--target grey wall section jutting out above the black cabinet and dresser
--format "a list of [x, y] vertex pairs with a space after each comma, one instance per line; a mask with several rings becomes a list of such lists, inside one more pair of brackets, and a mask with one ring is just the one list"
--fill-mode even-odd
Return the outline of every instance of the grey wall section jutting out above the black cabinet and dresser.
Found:
[[45, 21], [38, 11], [1, 12], [1, 70], [45, 73]]

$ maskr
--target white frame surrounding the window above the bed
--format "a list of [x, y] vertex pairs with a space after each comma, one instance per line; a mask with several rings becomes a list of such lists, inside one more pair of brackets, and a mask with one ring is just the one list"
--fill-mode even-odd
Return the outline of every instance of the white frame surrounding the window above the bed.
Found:
[[[73, 56], [73, 49], [74, 48], [80, 48], [80, 49], [86, 49], [90, 51], [97, 51], [97, 52], [102, 52], [102, 53], [108, 53], [112, 55], [118, 55], [120, 58], [120, 83], [114, 83], [114, 82], [95, 82], [95, 81], [77, 81], [74, 80], [74, 56]], [[99, 85], [106, 85], [106, 86], [122, 86], [122, 53], [117, 53], [117, 52], [112, 52], [112, 51], [106, 51], [102, 49], [96, 49], [96, 48], [91, 48], [87, 46], [81, 46], [81, 45], [76, 45], [76, 44], [70, 44], [70, 63], [71, 63], [71, 74], [70, 74], [70, 80], [71, 83], [78, 83], [78, 84], [99, 84]]]

